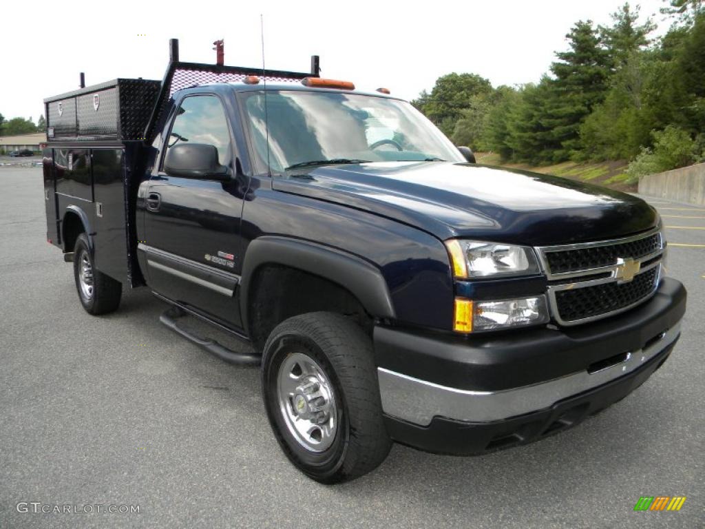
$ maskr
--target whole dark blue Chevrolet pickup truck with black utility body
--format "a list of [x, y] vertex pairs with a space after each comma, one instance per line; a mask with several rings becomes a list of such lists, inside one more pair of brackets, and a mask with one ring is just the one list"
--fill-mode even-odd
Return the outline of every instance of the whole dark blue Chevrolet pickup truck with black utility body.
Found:
[[685, 312], [652, 207], [474, 164], [384, 92], [173, 42], [161, 82], [45, 100], [48, 239], [85, 310], [147, 286], [178, 334], [261, 365], [278, 442], [321, 482], [392, 441], [483, 454], [571, 427], [666, 361]]

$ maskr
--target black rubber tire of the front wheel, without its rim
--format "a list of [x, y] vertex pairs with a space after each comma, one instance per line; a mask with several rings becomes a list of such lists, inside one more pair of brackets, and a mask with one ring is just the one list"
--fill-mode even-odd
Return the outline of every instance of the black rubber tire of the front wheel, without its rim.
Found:
[[[324, 372], [336, 402], [337, 430], [331, 446], [321, 452], [310, 451], [296, 439], [278, 398], [285, 360], [301, 354]], [[384, 427], [373, 358], [372, 342], [362, 329], [331, 312], [291, 317], [269, 335], [262, 355], [266, 413], [284, 453], [309, 478], [321, 483], [353, 480], [374, 470], [389, 453], [391, 439]]]

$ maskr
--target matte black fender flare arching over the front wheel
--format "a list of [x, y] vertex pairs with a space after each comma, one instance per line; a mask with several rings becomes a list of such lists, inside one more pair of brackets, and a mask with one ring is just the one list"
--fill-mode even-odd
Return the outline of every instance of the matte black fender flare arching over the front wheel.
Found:
[[[283, 265], [328, 279], [353, 294], [370, 315], [394, 318], [394, 305], [379, 268], [356, 255], [309, 241], [262, 236], [247, 247], [240, 279], [240, 314], [250, 327], [247, 308], [250, 280], [262, 265]], [[249, 330], [249, 329], [248, 329]]]

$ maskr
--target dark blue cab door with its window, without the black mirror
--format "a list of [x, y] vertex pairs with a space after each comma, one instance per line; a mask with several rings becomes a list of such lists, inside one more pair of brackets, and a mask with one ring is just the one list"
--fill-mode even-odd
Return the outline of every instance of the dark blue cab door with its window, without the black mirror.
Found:
[[[236, 291], [240, 282], [240, 219], [247, 178], [235, 170], [232, 116], [219, 95], [181, 99], [159, 159], [141, 190], [149, 286], [187, 308], [229, 327], [242, 327]], [[164, 171], [168, 150], [180, 142], [214, 145], [231, 181], [176, 177]]]

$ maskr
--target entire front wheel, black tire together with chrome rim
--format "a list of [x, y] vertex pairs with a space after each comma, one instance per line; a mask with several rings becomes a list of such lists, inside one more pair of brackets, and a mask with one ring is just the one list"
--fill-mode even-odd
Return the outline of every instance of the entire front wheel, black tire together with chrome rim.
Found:
[[310, 478], [353, 480], [386, 458], [372, 342], [345, 316], [310, 312], [279, 324], [264, 346], [262, 391], [276, 439]]

